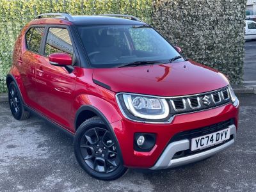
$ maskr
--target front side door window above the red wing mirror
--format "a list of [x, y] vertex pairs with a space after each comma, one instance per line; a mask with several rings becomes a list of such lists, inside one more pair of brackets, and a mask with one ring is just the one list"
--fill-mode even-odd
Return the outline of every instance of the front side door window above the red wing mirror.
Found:
[[65, 52], [72, 56], [73, 47], [70, 39], [70, 35], [68, 34], [67, 29], [63, 28], [50, 28], [46, 44], [44, 55], [49, 56], [54, 52]]

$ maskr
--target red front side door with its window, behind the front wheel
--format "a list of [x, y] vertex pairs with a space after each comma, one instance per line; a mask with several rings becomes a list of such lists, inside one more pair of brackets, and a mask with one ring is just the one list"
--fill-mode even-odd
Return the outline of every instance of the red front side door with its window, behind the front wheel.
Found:
[[74, 44], [68, 26], [49, 26], [46, 29], [42, 62], [36, 65], [36, 98], [40, 111], [63, 127], [71, 125], [71, 106], [74, 102], [76, 75], [65, 67], [49, 63], [48, 56], [55, 52], [65, 52], [74, 56]]

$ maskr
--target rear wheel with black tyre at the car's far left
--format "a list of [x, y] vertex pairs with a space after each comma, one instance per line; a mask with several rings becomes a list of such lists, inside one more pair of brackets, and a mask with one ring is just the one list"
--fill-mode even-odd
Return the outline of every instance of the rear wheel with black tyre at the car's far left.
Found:
[[17, 85], [12, 82], [8, 88], [8, 100], [12, 115], [17, 120], [25, 120], [29, 118], [29, 111], [26, 111], [23, 106], [22, 98], [20, 97]]

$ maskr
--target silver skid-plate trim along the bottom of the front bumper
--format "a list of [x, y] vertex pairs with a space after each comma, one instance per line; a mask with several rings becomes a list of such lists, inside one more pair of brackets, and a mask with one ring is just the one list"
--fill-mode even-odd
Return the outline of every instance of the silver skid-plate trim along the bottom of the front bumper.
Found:
[[213, 156], [214, 154], [220, 152], [221, 150], [224, 150], [225, 148], [229, 147], [230, 145], [232, 145], [234, 143], [235, 138], [236, 138], [236, 126], [230, 125], [228, 127], [230, 128], [230, 137], [232, 137], [232, 140], [227, 141], [227, 143], [224, 143], [223, 145], [220, 145], [218, 147], [211, 148], [209, 150], [205, 150], [204, 152], [199, 152], [199, 153], [191, 155], [191, 156], [173, 159], [173, 156], [177, 152], [188, 150], [190, 147], [189, 140], [175, 141], [173, 143], [170, 143], [165, 148], [163, 154], [161, 155], [161, 157], [159, 157], [157, 163], [150, 169], [151, 170], [159, 170], [159, 169], [173, 168], [175, 166], [181, 166], [184, 164], [194, 163], [196, 161], [200, 161], [207, 157]]

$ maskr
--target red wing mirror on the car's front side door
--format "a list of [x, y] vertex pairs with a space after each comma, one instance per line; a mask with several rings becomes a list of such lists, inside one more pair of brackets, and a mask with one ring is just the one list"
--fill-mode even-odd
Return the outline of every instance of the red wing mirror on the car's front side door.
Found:
[[72, 58], [69, 54], [63, 52], [56, 52], [49, 54], [49, 63], [55, 66], [68, 66], [72, 65]]

